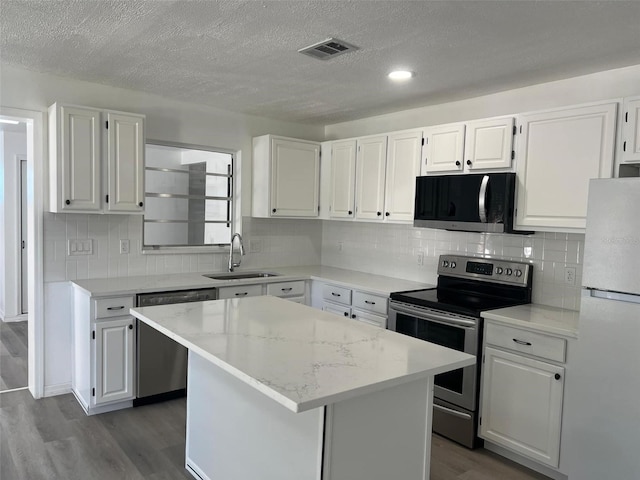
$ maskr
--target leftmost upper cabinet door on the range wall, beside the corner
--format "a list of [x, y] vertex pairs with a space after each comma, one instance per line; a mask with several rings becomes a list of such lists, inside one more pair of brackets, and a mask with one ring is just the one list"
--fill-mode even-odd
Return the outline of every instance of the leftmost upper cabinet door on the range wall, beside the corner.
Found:
[[356, 141], [331, 145], [331, 218], [353, 218], [356, 189]]

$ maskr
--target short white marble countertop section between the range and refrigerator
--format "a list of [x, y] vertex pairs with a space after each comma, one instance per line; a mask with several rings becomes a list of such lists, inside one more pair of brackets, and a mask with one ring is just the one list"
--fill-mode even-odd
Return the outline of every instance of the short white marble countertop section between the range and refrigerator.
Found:
[[482, 317], [542, 333], [578, 338], [580, 312], [530, 303], [482, 312]]

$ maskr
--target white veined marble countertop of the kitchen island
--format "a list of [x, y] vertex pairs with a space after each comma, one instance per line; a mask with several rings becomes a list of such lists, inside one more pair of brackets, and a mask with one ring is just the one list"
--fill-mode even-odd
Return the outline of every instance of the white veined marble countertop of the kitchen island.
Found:
[[131, 314], [293, 412], [476, 361], [270, 296], [139, 307]]

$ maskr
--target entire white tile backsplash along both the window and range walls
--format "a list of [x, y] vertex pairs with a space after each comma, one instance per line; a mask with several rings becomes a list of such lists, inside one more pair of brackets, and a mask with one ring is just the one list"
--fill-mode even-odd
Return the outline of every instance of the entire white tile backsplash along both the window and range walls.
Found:
[[[227, 268], [227, 253], [143, 255], [140, 216], [46, 213], [44, 222], [47, 282]], [[435, 283], [440, 254], [499, 257], [534, 266], [534, 302], [572, 310], [579, 306], [584, 235], [501, 235], [249, 217], [243, 218], [242, 235], [247, 252], [244, 269], [322, 264]], [[68, 255], [70, 239], [92, 239], [92, 254]], [[121, 239], [130, 241], [130, 253], [120, 253]], [[566, 267], [575, 268], [575, 285], [566, 283]]]

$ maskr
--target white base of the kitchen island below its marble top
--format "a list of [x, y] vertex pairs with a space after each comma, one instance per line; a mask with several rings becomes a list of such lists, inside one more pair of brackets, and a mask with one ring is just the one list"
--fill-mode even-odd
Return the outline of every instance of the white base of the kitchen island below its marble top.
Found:
[[189, 352], [186, 468], [207, 480], [429, 478], [433, 377], [294, 413]]

